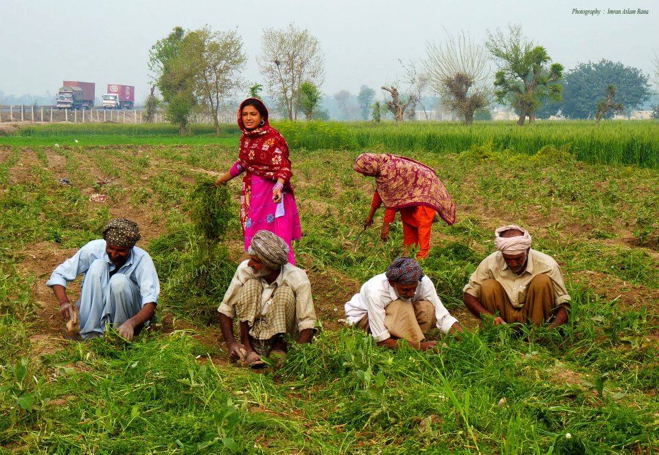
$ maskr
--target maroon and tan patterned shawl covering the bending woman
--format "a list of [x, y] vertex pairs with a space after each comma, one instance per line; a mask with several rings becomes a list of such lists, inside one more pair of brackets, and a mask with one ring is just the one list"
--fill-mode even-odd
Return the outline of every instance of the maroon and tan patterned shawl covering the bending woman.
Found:
[[455, 223], [455, 204], [430, 166], [398, 155], [362, 153], [354, 170], [375, 177], [375, 189], [386, 208], [427, 206], [446, 223]]

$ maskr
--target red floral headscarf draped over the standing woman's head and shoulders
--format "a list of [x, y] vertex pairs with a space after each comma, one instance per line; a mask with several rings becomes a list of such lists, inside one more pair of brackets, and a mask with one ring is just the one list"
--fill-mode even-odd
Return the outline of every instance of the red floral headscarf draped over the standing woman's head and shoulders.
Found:
[[[257, 100], [266, 109], [262, 126], [247, 131], [242, 123], [242, 108], [248, 100]], [[290, 188], [290, 159], [288, 158], [288, 144], [279, 131], [270, 126], [268, 122], [268, 109], [258, 98], [247, 98], [238, 108], [238, 126], [242, 131], [240, 138], [240, 153], [238, 160], [240, 166], [248, 173], [267, 179], [284, 179], [284, 186]]]

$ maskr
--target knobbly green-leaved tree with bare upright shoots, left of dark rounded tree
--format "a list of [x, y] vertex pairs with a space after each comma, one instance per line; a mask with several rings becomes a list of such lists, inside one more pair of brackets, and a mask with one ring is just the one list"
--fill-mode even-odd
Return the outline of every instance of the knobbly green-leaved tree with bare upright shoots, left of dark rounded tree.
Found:
[[509, 25], [508, 34], [497, 29], [487, 32], [485, 46], [499, 65], [494, 76], [494, 94], [498, 102], [508, 102], [518, 109], [522, 126], [526, 118], [535, 122], [535, 109], [544, 100], [559, 100], [563, 65], [551, 63], [542, 46], [536, 46], [522, 34], [519, 25]]

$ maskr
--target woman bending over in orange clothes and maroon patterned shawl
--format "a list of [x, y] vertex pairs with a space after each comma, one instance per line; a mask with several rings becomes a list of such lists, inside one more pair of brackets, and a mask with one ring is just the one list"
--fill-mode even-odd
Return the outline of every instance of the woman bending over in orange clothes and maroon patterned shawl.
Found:
[[375, 194], [364, 227], [373, 224], [375, 210], [384, 203], [382, 240], [389, 238], [389, 224], [396, 212], [400, 212], [405, 249], [419, 245], [417, 259], [427, 258], [435, 212], [446, 223], [452, 225], [455, 222], [455, 205], [435, 170], [406, 157], [375, 153], [359, 155], [354, 170], [375, 177]]

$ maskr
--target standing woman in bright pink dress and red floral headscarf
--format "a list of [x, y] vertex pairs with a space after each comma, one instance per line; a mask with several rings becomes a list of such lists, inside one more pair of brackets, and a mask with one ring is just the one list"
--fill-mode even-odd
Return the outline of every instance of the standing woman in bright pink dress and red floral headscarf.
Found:
[[268, 109], [258, 98], [247, 98], [238, 109], [238, 126], [242, 130], [238, 161], [215, 182], [216, 186], [242, 177], [240, 223], [245, 237], [245, 251], [259, 230], [274, 232], [289, 247], [288, 262], [295, 265], [292, 240], [302, 236], [300, 216], [290, 186], [288, 144], [268, 122]]

